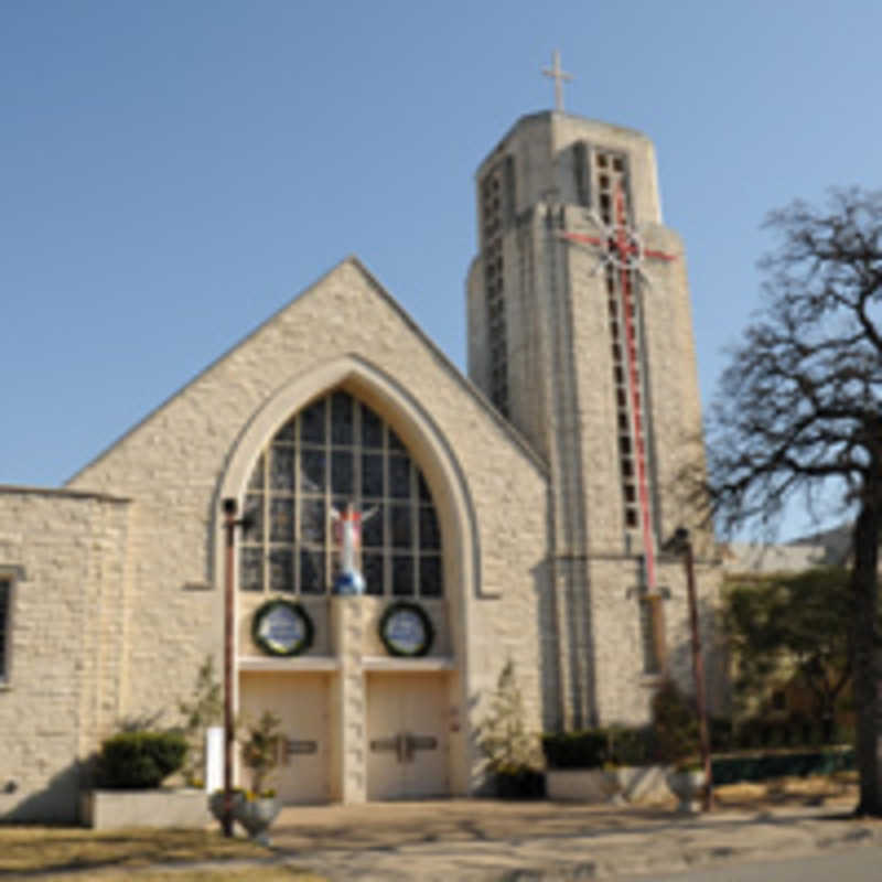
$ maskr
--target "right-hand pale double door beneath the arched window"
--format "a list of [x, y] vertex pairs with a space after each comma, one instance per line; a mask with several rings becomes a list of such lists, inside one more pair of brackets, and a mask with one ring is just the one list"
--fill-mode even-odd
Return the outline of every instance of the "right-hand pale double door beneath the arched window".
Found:
[[449, 702], [447, 675], [367, 675], [368, 799], [450, 794]]

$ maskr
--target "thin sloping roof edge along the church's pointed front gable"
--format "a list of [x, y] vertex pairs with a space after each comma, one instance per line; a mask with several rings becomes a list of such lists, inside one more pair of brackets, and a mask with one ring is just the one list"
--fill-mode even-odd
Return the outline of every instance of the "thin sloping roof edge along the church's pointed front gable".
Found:
[[[292, 298], [287, 300], [279, 309], [272, 312], [267, 319], [260, 322], [252, 331], [247, 333], [245, 336], [237, 340], [232, 346], [224, 349], [220, 355], [216, 358], [212, 359], [202, 370], [194, 374], [186, 383], [179, 386], [171, 395], [165, 397], [159, 405], [154, 408], [151, 408], [140, 420], [135, 422], [130, 426], [125, 432], [117, 435], [117, 438], [111, 441], [104, 450], [100, 451], [96, 456], [90, 459], [87, 463], [85, 463], [82, 467], [77, 469], [77, 471], [71, 475], [62, 485], [62, 490], [67, 490], [69, 492], [84, 492], [85, 491], [75, 491], [68, 487], [74, 481], [76, 481], [80, 475], [83, 475], [87, 470], [92, 469], [94, 465], [97, 465], [105, 456], [107, 456], [112, 450], [115, 450], [119, 444], [121, 444], [127, 438], [137, 432], [142, 426], [147, 424], [157, 413], [159, 413], [163, 408], [174, 401], [185, 389], [190, 388], [194, 383], [197, 383], [202, 377], [213, 370], [217, 365], [219, 365], [225, 358], [229, 357], [236, 349], [240, 346], [244, 346], [249, 340], [257, 336], [265, 327], [276, 321], [279, 315], [281, 315], [287, 309], [289, 309], [294, 302], [304, 298], [316, 290], [321, 284], [333, 276], [335, 272], [340, 272], [341, 269], [345, 266], [353, 266], [355, 267], [367, 280], [370, 284], [375, 288], [375, 290], [385, 298], [388, 303], [401, 315], [406, 324], [417, 333], [417, 335], [431, 349], [431, 352], [435, 355], [437, 358], [441, 361], [441, 364], [449, 370], [452, 372], [459, 383], [469, 391], [471, 395], [477, 399], [477, 401], [482, 405], [484, 410], [488, 412], [488, 415], [499, 423], [507, 434], [512, 438], [512, 440], [526, 453], [530, 460], [533, 460], [534, 464], [539, 469], [539, 471], [547, 475], [548, 474], [548, 465], [541, 459], [541, 456], [530, 447], [529, 442], [520, 435], [520, 433], [493, 407], [490, 400], [483, 395], [483, 392], [453, 364], [453, 362], [448, 358], [444, 352], [434, 343], [434, 341], [429, 337], [429, 335], [417, 324], [416, 320], [408, 313], [408, 311], [386, 290], [381, 282], [377, 280], [374, 273], [362, 262], [361, 258], [354, 254], [349, 254], [344, 257], [342, 260], [337, 261], [332, 266], [329, 270], [323, 272], [315, 281], [308, 284], [305, 288], [302, 288], [298, 293], [295, 293]], [[99, 493], [90, 493], [88, 495], [92, 496], [99, 496]], [[119, 498], [119, 497], [108, 497], [108, 498]]]

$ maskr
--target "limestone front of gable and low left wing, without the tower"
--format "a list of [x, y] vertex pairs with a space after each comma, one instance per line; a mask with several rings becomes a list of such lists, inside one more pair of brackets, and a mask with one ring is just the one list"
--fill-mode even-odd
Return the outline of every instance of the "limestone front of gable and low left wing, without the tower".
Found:
[[[0, 497], [0, 531], [9, 536], [0, 564], [23, 572], [13, 591], [11, 664], [0, 693], [4, 731], [13, 733], [7, 740], [15, 745], [0, 771], [0, 784], [15, 786], [3, 797], [12, 817], [42, 815], [22, 798], [41, 790], [64, 806], [61, 817], [74, 816], [78, 764], [101, 738], [126, 719], [176, 721], [178, 701], [189, 696], [201, 660], [220, 652], [219, 499], [241, 498], [267, 437], [329, 388], [348, 389], [395, 426], [435, 497], [447, 590], [435, 602], [441, 609], [433, 615], [439, 634], [432, 654], [410, 664], [432, 669], [451, 659], [450, 714], [460, 721], [450, 735], [451, 754], [459, 757], [451, 790], [472, 786], [476, 757], [469, 735], [478, 699], [509, 655], [518, 659], [527, 712], [539, 728], [540, 636], [524, 622], [536, 620], [547, 593], [545, 466], [348, 259], [86, 466], [68, 488], [7, 488]], [[520, 513], [517, 534], [513, 510]], [[247, 621], [265, 599], [243, 594], [237, 601], [243, 668], [259, 663]], [[325, 659], [343, 684], [340, 707], [352, 708], [364, 703], [358, 682], [365, 659], [380, 652], [375, 632], [381, 601], [349, 601], [364, 607], [358, 614], [366, 620], [356, 631], [364, 636], [353, 643], [351, 630], [332, 624], [329, 604], [343, 600], [310, 601], [316, 639], [309, 656], [290, 667]], [[51, 627], [60, 616], [69, 630], [66, 639]], [[348, 635], [345, 645], [341, 633]], [[49, 680], [41, 657], [52, 666]], [[341, 798], [363, 798], [364, 722], [349, 728], [337, 744], [343, 779], [336, 790]], [[55, 785], [60, 775], [72, 782], [69, 790]]]

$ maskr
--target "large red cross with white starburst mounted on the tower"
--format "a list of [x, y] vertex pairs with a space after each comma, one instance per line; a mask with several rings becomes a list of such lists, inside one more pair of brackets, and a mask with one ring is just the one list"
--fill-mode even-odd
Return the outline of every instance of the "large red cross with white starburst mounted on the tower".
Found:
[[625, 353], [627, 358], [627, 389], [631, 401], [631, 415], [634, 431], [634, 447], [637, 461], [637, 494], [641, 512], [641, 530], [646, 568], [646, 588], [648, 592], [656, 589], [655, 542], [649, 517], [649, 478], [646, 467], [646, 434], [643, 426], [643, 408], [641, 407], [639, 378], [637, 376], [637, 334], [634, 312], [634, 289], [631, 283], [631, 271], [639, 271], [641, 261], [648, 257], [655, 260], [675, 260], [676, 255], [653, 251], [643, 247], [637, 233], [628, 225], [625, 212], [625, 196], [622, 187], [615, 190], [615, 224], [604, 225], [603, 237], [585, 236], [581, 233], [561, 233], [563, 239], [582, 245], [593, 245], [601, 249], [601, 256], [619, 269], [622, 291], [622, 312], [624, 314]]

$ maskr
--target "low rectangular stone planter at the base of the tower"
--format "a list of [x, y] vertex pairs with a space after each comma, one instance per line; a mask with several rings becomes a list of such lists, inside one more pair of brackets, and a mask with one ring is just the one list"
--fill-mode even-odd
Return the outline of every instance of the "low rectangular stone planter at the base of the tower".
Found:
[[666, 768], [624, 765], [617, 768], [549, 768], [548, 798], [568, 803], [654, 803], [668, 797]]

